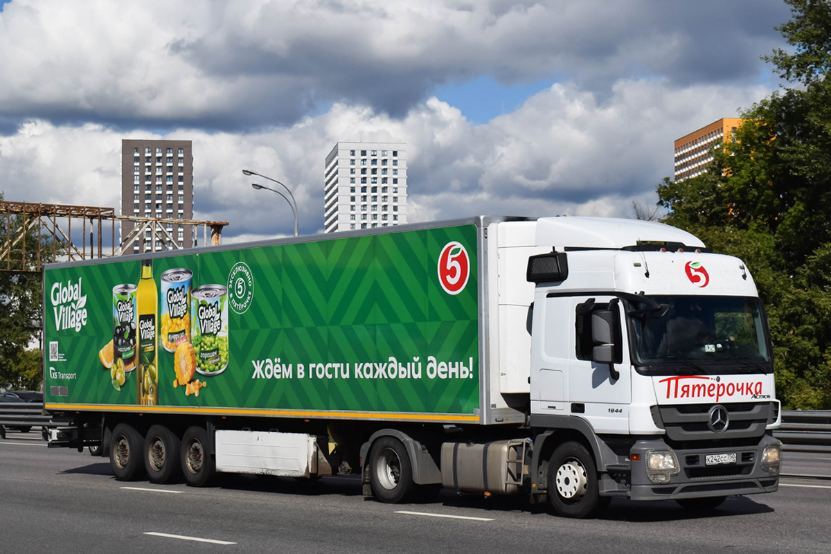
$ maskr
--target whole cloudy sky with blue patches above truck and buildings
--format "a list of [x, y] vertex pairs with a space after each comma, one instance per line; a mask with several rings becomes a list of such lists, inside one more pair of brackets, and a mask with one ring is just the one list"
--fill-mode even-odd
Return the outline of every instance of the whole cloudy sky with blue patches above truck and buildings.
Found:
[[[673, 140], [780, 83], [782, 0], [0, 0], [0, 192], [120, 206], [122, 139], [192, 140], [224, 242], [323, 228], [337, 141], [405, 142], [411, 223], [634, 217]], [[268, 194], [268, 197], [263, 196]], [[273, 198], [270, 198], [273, 197]]]

